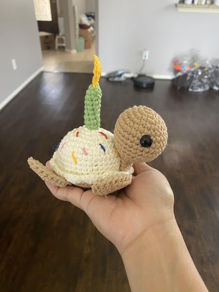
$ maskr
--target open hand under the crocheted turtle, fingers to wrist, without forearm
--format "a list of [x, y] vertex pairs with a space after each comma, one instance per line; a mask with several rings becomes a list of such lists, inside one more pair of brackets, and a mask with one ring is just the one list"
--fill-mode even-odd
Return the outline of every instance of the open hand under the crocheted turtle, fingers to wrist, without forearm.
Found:
[[[92, 190], [53, 186], [46, 182], [58, 199], [84, 210], [96, 228], [108, 238], [120, 254], [143, 238], [148, 229], [174, 218], [173, 192], [167, 179], [146, 163], [136, 163], [131, 185], [107, 196]], [[49, 161], [46, 167], [50, 168]]]

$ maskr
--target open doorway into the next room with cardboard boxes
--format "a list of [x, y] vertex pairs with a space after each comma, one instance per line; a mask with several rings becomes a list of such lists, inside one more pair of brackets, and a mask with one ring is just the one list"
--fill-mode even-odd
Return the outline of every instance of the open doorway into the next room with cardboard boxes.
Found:
[[[47, 10], [50, 9], [50, 20], [37, 19], [39, 32], [52, 34], [54, 43], [45, 48], [41, 46], [44, 71], [52, 72], [93, 72], [93, 55], [96, 54], [96, 7], [97, 0], [68, 0], [68, 11], [64, 7], [66, 1], [63, 0], [34, 0], [35, 12], [36, 5], [39, 4], [41, 12], [46, 11], [43, 5], [47, 2]], [[76, 7], [76, 9], [75, 9]], [[75, 10], [77, 14], [75, 14]], [[38, 11], [39, 13], [39, 11]], [[66, 14], [67, 13], [67, 14]], [[37, 16], [37, 13], [36, 13]], [[69, 50], [66, 46], [69, 31], [72, 27], [66, 26], [68, 17], [74, 21], [75, 42], [78, 36], [84, 38], [84, 48]], [[71, 22], [68, 23], [71, 26]], [[67, 30], [67, 31], [66, 31]], [[69, 30], [69, 31], [68, 31]], [[65, 32], [66, 31], [66, 32]], [[54, 37], [53, 37], [54, 36]], [[42, 37], [40, 37], [42, 40]], [[78, 48], [77, 48], [78, 49]]]

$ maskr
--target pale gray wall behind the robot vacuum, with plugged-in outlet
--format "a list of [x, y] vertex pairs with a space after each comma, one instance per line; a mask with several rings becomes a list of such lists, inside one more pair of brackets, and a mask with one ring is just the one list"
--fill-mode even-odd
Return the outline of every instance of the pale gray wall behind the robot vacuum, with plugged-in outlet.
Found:
[[98, 54], [102, 71], [138, 72], [142, 51], [149, 50], [144, 73], [168, 75], [170, 62], [191, 48], [219, 57], [219, 15], [178, 12], [176, 0], [99, 0]]

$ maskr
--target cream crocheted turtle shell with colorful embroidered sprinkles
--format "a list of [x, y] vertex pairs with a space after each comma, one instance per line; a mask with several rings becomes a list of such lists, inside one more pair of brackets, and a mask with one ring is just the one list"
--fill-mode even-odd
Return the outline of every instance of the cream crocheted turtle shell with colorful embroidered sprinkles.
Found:
[[85, 126], [73, 129], [60, 142], [50, 160], [51, 168], [72, 184], [93, 185], [111, 177], [132, 174], [119, 171], [121, 157], [115, 148], [111, 132]]

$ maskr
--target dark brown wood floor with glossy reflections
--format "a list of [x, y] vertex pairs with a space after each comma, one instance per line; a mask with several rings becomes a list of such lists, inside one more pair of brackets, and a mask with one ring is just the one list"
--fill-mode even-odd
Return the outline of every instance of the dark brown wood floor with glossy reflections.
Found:
[[[55, 199], [30, 170], [49, 160], [60, 139], [83, 125], [91, 74], [43, 73], [0, 113], [0, 290], [130, 291], [118, 251], [89, 218]], [[100, 80], [102, 127], [113, 130], [127, 107], [147, 105], [166, 121], [169, 140], [150, 163], [168, 178], [175, 216], [209, 291], [219, 287], [219, 96], [189, 93], [170, 81], [154, 90], [131, 80]]]

